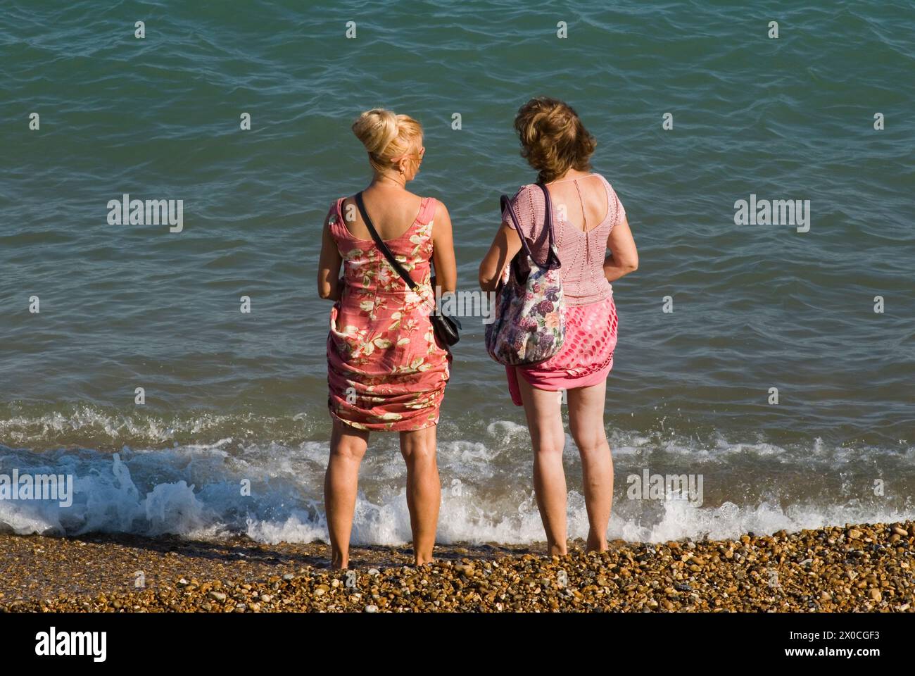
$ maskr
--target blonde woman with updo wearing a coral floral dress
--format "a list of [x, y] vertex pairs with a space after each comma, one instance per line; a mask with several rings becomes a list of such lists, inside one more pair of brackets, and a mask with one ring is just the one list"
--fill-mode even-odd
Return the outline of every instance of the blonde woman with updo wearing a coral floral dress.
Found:
[[[425, 154], [418, 122], [374, 109], [361, 114], [352, 131], [368, 152], [371, 183], [331, 205], [318, 264], [318, 294], [334, 301], [328, 334], [333, 431], [324, 482], [331, 565], [349, 565], [359, 466], [371, 431], [400, 433], [414, 561], [421, 565], [432, 561], [436, 541], [436, 423], [451, 361], [429, 320], [431, 267], [442, 292], [453, 292], [451, 221], [444, 204], [406, 189]], [[415, 291], [375, 245], [367, 220], [418, 285]]]

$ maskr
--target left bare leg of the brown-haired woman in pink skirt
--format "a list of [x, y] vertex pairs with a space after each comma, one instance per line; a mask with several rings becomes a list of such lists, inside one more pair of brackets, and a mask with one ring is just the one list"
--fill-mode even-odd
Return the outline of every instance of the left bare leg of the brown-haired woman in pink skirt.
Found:
[[518, 375], [518, 387], [531, 431], [533, 490], [546, 531], [546, 551], [563, 555], [565, 544], [565, 431], [559, 410], [559, 393], [531, 387]]

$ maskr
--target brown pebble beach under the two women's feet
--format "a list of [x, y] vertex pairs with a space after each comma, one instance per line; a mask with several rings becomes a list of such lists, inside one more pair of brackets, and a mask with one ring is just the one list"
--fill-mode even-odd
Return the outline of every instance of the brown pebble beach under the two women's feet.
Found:
[[583, 547], [0, 535], [0, 612], [915, 612], [915, 521]]

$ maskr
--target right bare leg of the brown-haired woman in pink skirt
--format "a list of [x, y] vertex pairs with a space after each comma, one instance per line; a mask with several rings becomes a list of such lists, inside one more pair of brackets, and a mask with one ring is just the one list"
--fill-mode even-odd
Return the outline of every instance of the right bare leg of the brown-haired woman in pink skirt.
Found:
[[613, 507], [613, 459], [604, 431], [607, 380], [568, 391], [569, 431], [581, 454], [582, 488], [587, 507], [587, 551], [607, 549]]

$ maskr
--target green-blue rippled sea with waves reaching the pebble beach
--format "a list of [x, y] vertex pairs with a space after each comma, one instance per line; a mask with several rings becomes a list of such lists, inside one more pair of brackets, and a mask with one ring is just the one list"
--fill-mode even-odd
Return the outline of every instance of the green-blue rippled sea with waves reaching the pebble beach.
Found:
[[[328, 205], [369, 179], [350, 124], [423, 123], [411, 188], [447, 204], [469, 291], [500, 195], [533, 180], [511, 124], [537, 94], [597, 136], [640, 251], [614, 284], [611, 537], [912, 518], [913, 35], [909, 0], [3, 0], [0, 474], [75, 493], [0, 500], [0, 529], [325, 537], [315, 277]], [[182, 201], [181, 231], [110, 224], [124, 193]], [[751, 199], [809, 222], [736, 223]], [[540, 540], [522, 410], [464, 328], [439, 539]], [[702, 499], [631, 499], [646, 471], [701, 475]], [[374, 435], [355, 540], [409, 540], [404, 481]]]

